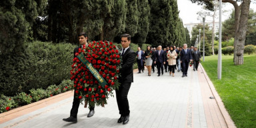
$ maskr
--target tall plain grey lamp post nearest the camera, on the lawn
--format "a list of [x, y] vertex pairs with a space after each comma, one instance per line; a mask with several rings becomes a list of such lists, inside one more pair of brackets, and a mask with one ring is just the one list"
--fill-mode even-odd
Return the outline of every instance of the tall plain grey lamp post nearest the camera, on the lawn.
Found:
[[221, 69], [222, 69], [222, 62], [221, 62], [221, 4], [222, 1], [219, 1], [219, 51], [218, 51], [218, 67], [217, 67], [217, 75], [218, 79], [221, 79]]

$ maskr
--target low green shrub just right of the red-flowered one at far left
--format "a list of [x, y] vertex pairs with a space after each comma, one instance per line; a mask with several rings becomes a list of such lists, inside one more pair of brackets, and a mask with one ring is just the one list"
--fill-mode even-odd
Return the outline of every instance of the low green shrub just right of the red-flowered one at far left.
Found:
[[32, 97], [31, 95], [27, 95], [26, 93], [18, 93], [13, 99], [17, 102], [19, 105], [27, 105], [31, 103]]

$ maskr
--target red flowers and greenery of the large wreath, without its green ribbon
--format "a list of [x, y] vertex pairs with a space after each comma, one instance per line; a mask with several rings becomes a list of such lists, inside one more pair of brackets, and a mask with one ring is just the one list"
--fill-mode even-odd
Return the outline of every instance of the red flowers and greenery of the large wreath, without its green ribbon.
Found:
[[79, 49], [75, 55], [80, 53], [108, 84], [102, 87], [89, 69], [75, 57], [71, 66], [71, 80], [74, 82], [76, 97], [81, 99], [81, 102], [84, 100], [86, 106], [87, 103], [104, 106], [107, 104], [109, 95], [113, 96], [113, 90], [118, 89], [120, 84], [118, 82], [121, 68], [119, 50], [111, 42], [93, 41], [87, 47], [83, 45], [83, 49]]

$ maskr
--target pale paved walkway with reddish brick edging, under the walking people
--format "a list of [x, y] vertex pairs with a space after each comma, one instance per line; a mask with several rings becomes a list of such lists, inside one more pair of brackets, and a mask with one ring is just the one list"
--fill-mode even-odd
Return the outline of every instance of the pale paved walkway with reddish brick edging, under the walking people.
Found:
[[[117, 123], [119, 112], [115, 97], [105, 107], [95, 107], [95, 115], [87, 118], [89, 109], [80, 105], [77, 123], [66, 123], [72, 107], [73, 92], [51, 97], [29, 107], [0, 114], [0, 127], [235, 127], [204, 69], [189, 67], [188, 77], [181, 72], [171, 77], [164, 73], [151, 77], [134, 73], [128, 99], [130, 121]], [[209, 99], [215, 97], [215, 99]], [[27, 111], [27, 112], [26, 112]]]

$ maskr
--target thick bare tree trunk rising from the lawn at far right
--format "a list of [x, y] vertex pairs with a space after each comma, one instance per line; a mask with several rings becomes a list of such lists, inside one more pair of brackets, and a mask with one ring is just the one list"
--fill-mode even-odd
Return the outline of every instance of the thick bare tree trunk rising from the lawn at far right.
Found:
[[[234, 61], [235, 65], [243, 64], [243, 51], [245, 48], [245, 36], [247, 31], [247, 21], [251, 0], [243, 0], [241, 3], [241, 14], [239, 17], [239, 27], [235, 33]], [[236, 17], [235, 17], [236, 18]], [[237, 26], [236, 26], [237, 27]]]

